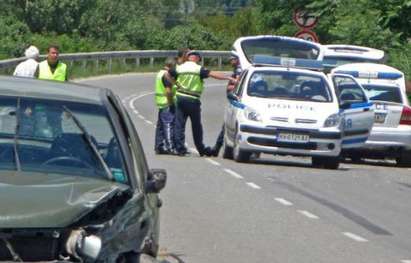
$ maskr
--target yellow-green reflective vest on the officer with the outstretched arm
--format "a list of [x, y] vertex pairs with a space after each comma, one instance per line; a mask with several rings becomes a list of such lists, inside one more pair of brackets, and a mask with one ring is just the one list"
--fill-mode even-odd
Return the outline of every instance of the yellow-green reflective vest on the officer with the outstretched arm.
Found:
[[187, 61], [177, 65], [177, 96], [186, 96], [200, 99], [203, 93], [203, 80], [200, 78], [201, 66], [195, 62]]

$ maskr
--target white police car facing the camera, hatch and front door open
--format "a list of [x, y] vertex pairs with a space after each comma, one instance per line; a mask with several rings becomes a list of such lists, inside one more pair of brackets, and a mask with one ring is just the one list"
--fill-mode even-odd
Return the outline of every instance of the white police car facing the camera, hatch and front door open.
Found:
[[342, 149], [365, 143], [371, 103], [352, 76], [319, 70], [321, 46], [257, 36], [238, 39], [234, 51], [244, 71], [225, 111], [225, 158], [311, 156], [313, 166], [337, 169]]

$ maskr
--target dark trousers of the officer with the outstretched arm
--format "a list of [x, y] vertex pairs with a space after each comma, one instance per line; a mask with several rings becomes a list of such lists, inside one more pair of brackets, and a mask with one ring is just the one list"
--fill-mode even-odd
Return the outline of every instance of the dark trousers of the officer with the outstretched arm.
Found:
[[191, 99], [184, 96], [177, 97], [176, 109], [176, 149], [178, 152], [186, 151], [185, 129], [187, 119], [190, 118], [194, 144], [199, 153], [203, 153], [205, 146], [203, 143], [203, 126], [201, 124], [201, 102], [198, 99]]

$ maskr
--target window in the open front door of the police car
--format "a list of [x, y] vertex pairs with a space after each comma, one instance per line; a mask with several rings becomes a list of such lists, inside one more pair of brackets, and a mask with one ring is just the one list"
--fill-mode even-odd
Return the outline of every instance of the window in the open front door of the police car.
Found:
[[334, 76], [333, 82], [340, 105], [368, 101], [364, 90], [353, 78], [349, 76]]

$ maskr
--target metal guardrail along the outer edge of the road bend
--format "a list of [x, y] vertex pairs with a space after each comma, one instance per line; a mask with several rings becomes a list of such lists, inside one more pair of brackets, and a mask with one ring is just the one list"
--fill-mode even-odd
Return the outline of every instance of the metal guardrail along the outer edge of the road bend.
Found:
[[[222, 67], [223, 59], [230, 55], [229, 51], [212, 51], [212, 50], [200, 50], [202, 55], [202, 63], [207, 58], [217, 59], [217, 65], [219, 68]], [[167, 58], [175, 57], [177, 51], [175, 50], [132, 50], [132, 51], [106, 51], [106, 52], [87, 52], [87, 53], [67, 53], [60, 54], [60, 59], [65, 62], [73, 63], [75, 61], [82, 61], [85, 67], [87, 61], [95, 61], [97, 69], [99, 68], [99, 61], [107, 61], [108, 73], [111, 73], [113, 59], [123, 60], [126, 63], [126, 59], [134, 59], [136, 67], [141, 65], [141, 59], [149, 59], [149, 65], [154, 65], [155, 58]], [[45, 58], [44, 55], [40, 58]], [[0, 69], [11, 69], [14, 68], [18, 63], [24, 61], [26, 58], [14, 58], [0, 60]]]

